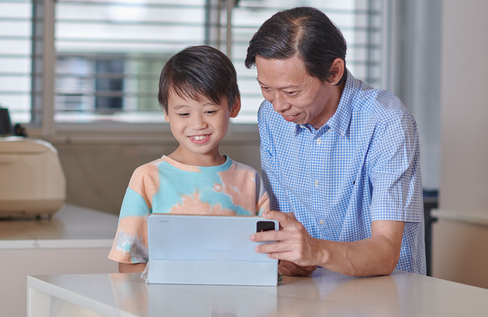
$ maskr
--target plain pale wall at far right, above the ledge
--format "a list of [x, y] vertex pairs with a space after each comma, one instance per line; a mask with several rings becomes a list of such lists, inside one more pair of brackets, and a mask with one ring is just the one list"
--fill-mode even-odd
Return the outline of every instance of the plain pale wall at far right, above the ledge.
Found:
[[488, 1], [444, 0], [440, 209], [488, 213]]

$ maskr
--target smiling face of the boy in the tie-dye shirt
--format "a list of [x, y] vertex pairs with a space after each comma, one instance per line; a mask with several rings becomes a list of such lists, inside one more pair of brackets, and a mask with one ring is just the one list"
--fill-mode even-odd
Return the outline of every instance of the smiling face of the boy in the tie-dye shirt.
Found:
[[195, 101], [169, 91], [168, 112], [164, 118], [180, 143], [180, 154], [188, 161], [194, 161], [190, 165], [199, 165], [202, 155], [220, 157], [219, 143], [227, 133], [229, 118], [235, 118], [240, 108], [240, 99], [229, 111], [227, 98], [221, 98], [220, 103], [215, 104], [204, 96], [201, 101]]

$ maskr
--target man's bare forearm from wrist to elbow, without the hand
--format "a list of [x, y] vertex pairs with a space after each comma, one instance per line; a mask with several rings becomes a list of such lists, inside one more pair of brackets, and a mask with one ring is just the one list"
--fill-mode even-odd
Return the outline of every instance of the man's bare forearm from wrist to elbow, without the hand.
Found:
[[349, 276], [388, 275], [395, 269], [400, 249], [386, 235], [360, 241], [318, 240], [323, 262], [319, 265]]

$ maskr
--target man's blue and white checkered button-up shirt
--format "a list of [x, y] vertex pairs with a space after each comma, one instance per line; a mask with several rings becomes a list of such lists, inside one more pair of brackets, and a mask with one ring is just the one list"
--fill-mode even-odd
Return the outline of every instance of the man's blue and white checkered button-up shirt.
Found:
[[293, 212], [319, 239], [371, 237], [371, 221], [405, 221], [397, 269], [426, 274], [420, 149], [400, 99], [349, 72], [335, 114], [318, 130], [258, 113], [271, 210]]

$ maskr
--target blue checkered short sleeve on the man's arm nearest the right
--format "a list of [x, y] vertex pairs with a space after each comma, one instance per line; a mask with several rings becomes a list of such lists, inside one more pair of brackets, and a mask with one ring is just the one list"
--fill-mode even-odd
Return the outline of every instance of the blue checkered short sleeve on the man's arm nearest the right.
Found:
[[420, 145], [408, 113], [388, 119], [371, 141], [371, 220], [423, 222]]

